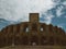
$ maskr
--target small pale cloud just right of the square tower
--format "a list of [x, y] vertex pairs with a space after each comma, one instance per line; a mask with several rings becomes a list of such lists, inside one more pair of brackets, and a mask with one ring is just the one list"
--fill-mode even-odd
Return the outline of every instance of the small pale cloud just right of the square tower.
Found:
[[43, 13], [42, 17], [44, 19], [44, 21], [41, 21], [42, 23], [51, 24], [54, 15], [47, 11]]

